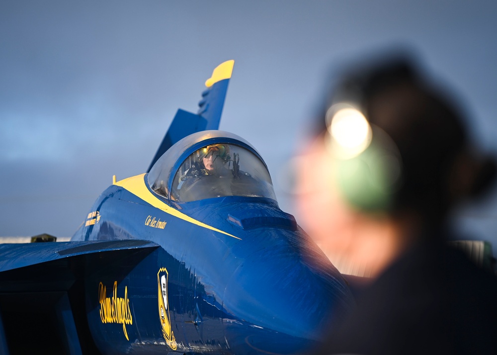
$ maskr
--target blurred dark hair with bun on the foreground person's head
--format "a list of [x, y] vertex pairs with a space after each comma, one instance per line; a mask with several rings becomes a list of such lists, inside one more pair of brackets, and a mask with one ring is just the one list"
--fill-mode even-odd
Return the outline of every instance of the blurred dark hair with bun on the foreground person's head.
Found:
[[348, 71], [331, 95], [331, 104], [339, 101], [355, 102], [400, 151], [403, 185], [394, 213], [414, 209], [439, 221], [454, 203], [495, 180], [495, 159], [469, 142], [463, 110], [406, 56]]

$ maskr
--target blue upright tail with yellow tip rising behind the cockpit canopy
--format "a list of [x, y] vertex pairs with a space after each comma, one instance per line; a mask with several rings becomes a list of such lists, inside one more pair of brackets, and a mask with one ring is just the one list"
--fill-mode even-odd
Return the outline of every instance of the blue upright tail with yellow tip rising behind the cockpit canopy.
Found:
[[207, 89], [202, 92], [202, 99], [198, 103], [197, 114], [178, 109], [164, 139], [150, 163], [147, 173], [157, 160], [180, 139], [200, 131], [219, 129], [224, 100], [228, 90], [228, 83], [233, 72], [234, 60], [226, 61], [217, 66], [212, 76], [207, 79]]

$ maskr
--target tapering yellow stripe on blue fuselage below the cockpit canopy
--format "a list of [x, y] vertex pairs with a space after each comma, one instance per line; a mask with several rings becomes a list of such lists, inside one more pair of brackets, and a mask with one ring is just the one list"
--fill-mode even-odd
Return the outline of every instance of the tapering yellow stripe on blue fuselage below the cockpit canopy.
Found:
[[177, 209], [168, 206], [166, 203], [164, 203], [159, 198], [154, 196], [154, 194], [152, 192], [150, 192], [150, 190], [145, 185], [144, 176], [145, 176], [145, 174], [137, 175], [135, 177], [128, 177], [128, 178], [125, 178], [124, 180], [117, 181], [114, 184], [125, 188], [126, 190], [128, 190], [129, 192], [134, 194], [135, 196], [140, 197], [145, 202], [148, 202], [152, 206], [159, 208], [160, 210], [163, 210], [167, 214], [170, 214], [174, 217], [180, 218], [186, 222], [193, 223], [197, 226], [204, 227], [204, 228], [210, 229], [212, 231], [226, 234], [227, 236], [241, 240], [241, 238], [235, 237], [234, 235], [223, 232], [222, 230], [219, 230], [219, 229], [211, 227], [205, 223], [197, 221], [196, 219], [191, 218], [191, 217], [187, 216], [186, 214], [179, 212]]

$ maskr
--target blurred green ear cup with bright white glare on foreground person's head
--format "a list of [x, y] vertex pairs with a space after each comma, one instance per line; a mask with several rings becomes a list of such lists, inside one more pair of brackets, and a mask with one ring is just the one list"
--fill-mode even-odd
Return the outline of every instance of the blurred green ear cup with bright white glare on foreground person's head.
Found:
[[333, 159], [333, 180], [355, 209], [387, 212], [402, 186], [402, 159], [390, 136], [350, 103], [327, 111], [326, 147]]

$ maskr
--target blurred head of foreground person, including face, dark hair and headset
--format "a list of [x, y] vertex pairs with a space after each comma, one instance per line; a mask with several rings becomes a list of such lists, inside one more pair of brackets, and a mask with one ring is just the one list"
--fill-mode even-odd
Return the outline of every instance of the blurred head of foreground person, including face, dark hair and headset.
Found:
[[471, 144], [455, 101], [409, 60], [341, 73], [302, 159], [297, 207], [332, 263], [357, 274], [347, 267], [380, 270], [484, 191], [496, 169]]

